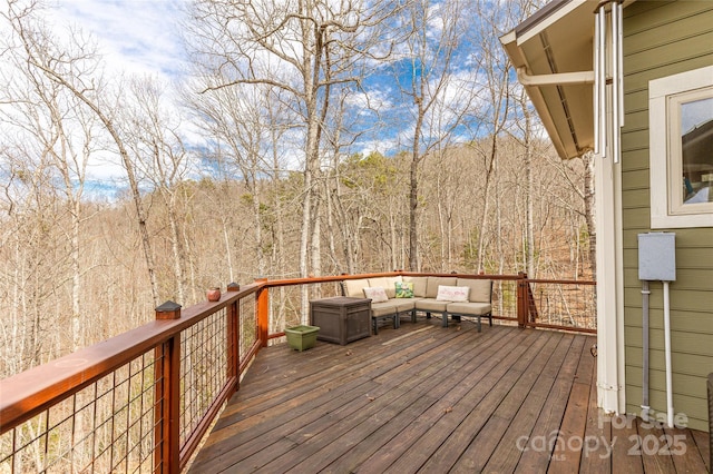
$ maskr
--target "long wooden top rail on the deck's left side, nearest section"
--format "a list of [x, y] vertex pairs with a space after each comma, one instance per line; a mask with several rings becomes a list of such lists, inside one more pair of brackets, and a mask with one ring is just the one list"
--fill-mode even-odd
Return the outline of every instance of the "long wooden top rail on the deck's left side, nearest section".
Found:
[[0, 381], [0, 434], [261, 287], [262, 284], [253, 284], [238, 292], [224, 293], [219, 302], [199, 303], [183, 309], [178, 319], [153, 320]]

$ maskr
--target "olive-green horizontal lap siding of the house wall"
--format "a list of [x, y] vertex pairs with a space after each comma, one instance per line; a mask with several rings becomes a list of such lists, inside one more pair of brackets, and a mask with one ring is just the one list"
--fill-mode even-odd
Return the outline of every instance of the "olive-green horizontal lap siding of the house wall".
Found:
[[[651, 231], [648, 81], [713, 65], [713, 2], [638, 1], [624, 12], [625, 127], [622, 132], [626, 412], [641, 414], [642, 282], [637, 235]], [[654, 190], [665, 192], [665, 190]], [[662, 230], [662, 229], [657, 229]], [[671, 284], [673, 405], [707, 431], [706, 376], [713, 372], [713, 228], [676, 234]], [[651, 283], [649, 405], [666, 412], [663, 285]]]

